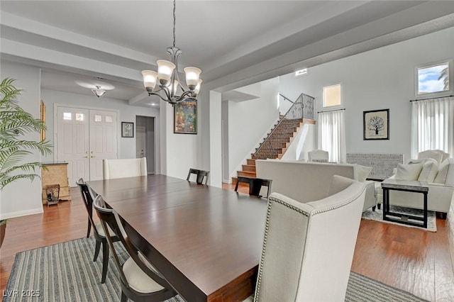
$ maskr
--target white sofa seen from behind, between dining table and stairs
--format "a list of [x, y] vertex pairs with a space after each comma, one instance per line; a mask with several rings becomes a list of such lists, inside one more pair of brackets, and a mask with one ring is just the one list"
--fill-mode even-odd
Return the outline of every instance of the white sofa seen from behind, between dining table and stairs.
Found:
[[358, 164], [328, 164], [285, 160], [256, 160], [257, 177], [272, 179], [271, 192], [284, 194], [306, 203], [328, 196], [329, 181], [333, 175], [362, 181], [366, 186], [363, 211], [375, 210], [374, 181], [365, 181], [370, 169]]

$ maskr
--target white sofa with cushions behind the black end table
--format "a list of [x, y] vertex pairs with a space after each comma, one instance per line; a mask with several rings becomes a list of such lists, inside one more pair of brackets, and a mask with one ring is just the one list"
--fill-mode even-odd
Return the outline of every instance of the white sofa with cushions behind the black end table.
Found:
[[[410, 161], [411, 162], [411, 161]], [[420, 163], [421, 164], [421, 163]], [[416, 164], [411, 164], [411, 166]], [[446, 218], [451, 203], [454, 202], [454, 158], [447, 158], [437, 166], [435, 177], [425, 181], [426, 175], [422, 175], [421, 170], [417, 179], [402, 179], [399, 177], [399, 169], [406, 169], [408, 165], [400, 165], [397, 167], [396, 174], [391, 179], [399, 179], [402, 181], [415, 181], [419, 180], [422, 184], [428, 186], [427, 194], [427, 208], [429, 211], [436, 211], [441, 213], [442, 218]], [[402, 176], [402, 172], [400, 173]], [[421, 179], [421, 177], [423, 179]], [[433, 180], [432, 180], [433, 178]], [[377, 204], [383, 203], [383, 190], [380, 183], [375, 188]], [[405, 206], [408, 208], [423, 208], [423, 195], [406, 191], [389, 191], [389, 204], [396, 206]]]

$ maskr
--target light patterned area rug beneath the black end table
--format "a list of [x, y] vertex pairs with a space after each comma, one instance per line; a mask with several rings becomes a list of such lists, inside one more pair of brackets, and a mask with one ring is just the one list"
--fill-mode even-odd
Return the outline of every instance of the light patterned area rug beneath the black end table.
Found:
[[[379, 208], [375, 208], [375, 211], [372, 211], [372, 208], [367, 209], [366, 211], [362, 212], [362, 218], [380, 221], [382, 223], [392, 223], [394, 225], [401, 225], [407, 228], [419, 228], [420, 230], [428, 230], [430, 232], [437, 231], [437, 221], [436, 221], [436, 214], [433, 211], [427, 211], [427, 228], [421, 228], [414, 225], [405, 225], [403, 223], [394, 223], [393, 221], [383, 220], [383, 206], [379, 210]], [[405, 215], [412, 215], [412, 216], [423, 216], [423, 211], [419, 210], [418, 208], [404, 208], [402, 206], [389, 206], [389, 211], [394, 213], [402, 213]]]

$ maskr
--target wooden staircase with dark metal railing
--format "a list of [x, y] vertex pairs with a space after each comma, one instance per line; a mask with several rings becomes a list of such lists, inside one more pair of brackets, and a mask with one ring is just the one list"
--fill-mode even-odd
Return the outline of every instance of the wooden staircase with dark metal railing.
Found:
[[[314, 98], [301, 94], [287, 113], [280, 116], [279, 121], [270, 133], [267, 133], [266, 138], [255, 149], [255, 152], [251, 153], [251, 158], [242, 165], [241, 171], [237, 171], [237, 176], [256, 177], [255, 160], [282, 158], [292, 142], [294, 134], [305, 120], [311, 120], [311, 123], [314, 123]], [[232, 183], [236, 184], [236, 177], [232, 177]]]

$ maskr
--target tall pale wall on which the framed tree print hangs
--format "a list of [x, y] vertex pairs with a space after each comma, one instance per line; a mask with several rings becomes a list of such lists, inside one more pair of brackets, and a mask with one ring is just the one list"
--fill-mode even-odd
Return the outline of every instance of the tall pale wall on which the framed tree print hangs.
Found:
[[[411, 105], [415, 67], [452, 59], [454, 28], [311, 67], [309, 74], [281, 76], [280, 90], [290, 99], [301, 92], [316, 98], [322, 86], [342, 84], [348, 153], [404, 153], [410, 158]], [[389, 108], [389, 140], [362, 140], [363, 111]]]

